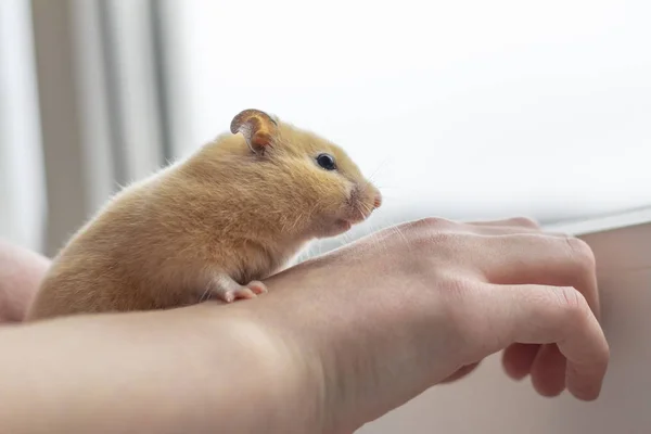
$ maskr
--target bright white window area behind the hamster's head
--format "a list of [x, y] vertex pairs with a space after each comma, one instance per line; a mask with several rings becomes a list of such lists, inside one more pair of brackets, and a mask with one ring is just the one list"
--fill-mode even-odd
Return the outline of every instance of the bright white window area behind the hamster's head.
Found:
[[651, 203], [649, 1], [177, 4], [184, 154], [257, 107], [343, 145], [385, 214]]

